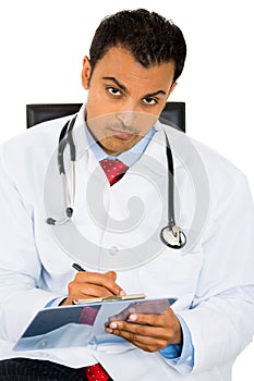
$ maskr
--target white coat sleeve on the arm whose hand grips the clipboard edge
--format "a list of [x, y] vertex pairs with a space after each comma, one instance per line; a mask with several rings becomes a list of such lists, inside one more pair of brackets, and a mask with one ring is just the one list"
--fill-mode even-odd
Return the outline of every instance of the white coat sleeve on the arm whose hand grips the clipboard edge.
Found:
[[193, 372], [233, 361], [254, 333], [253, 201], [243, 174], [228, 184], [211, 194], [196, 295], [179, 311], [192, 336]]

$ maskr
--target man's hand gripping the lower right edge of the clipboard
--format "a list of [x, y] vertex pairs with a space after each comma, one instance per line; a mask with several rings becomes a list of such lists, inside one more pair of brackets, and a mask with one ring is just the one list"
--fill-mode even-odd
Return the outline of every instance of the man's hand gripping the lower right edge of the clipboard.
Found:
[[181, 324], [170, 307], [161, 315], [131, 314], [128, 321], [111, 321], [105, 330], [146, 352], [182, 343]]

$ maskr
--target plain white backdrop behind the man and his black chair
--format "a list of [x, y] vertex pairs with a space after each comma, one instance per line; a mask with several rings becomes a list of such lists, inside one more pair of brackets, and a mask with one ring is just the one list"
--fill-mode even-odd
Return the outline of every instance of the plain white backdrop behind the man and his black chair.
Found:
[[[0, 143], [25, 131], [26, 103], [85, 101], [82, 59], [95, 28], [105, 15], [136, 8], [161, 13], [183, 30], [188, 59], [171, 100], [186, 102], [189, 135], [240, 168], [254, 194], [251, 0], [2, 1]], [[253, 344], [233, 370], [233, 381], [249, 380]]]

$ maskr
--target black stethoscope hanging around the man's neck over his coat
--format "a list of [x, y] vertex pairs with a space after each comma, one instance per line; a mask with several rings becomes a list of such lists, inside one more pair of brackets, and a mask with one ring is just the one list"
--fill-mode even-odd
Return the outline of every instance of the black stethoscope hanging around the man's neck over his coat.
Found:
[[[75, 200], [75, 184], [76, 184], [76, 180], [75, 180], [76, 148], [73, 142], [72, 133], [73, 133], [73, 126], [75, 124], [75, 120], [76, 120], [76, 115], [64, 124], [59, 136], [59, 145], [58, 145], [58, 170], [62, 179], [65, 218], [63, 220], [56, 220], [52, 218], [48, 218], [46, 222], [49, 225], [63, 225], [68, 221], [70, 221], [73, 216], [73, 206]], [[186, 244], [186, 236], [183, 233], [182, 229], [176, 224], [176, 220], [174, 220], [173, 158], [172, 158], [172, 152], [170, 149], [168, 136], [166, 134], [165, 134], [165, 137], [166, 137], [166, 153], [167, 153], [168, 170], [171, 175], [168, 176], [168, 195], [169, 195], [168, 224], [167, 226], [161, 229], [160, 238], [165, 245], [169, 246], [170, 248], [178, 249], [178, 248], [182, 248]], [[63, 159], [63, 153], [68, 145], [70, 149], [70, 161], [72, 164], [72, 189], [71, 189], [70, 202], [68, 202], [66, 174], [65, 174], [64, 159]]]

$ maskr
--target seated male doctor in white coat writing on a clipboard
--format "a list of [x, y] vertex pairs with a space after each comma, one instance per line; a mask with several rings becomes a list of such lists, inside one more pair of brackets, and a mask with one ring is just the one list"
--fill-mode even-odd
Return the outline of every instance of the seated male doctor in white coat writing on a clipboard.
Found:
[[[233, 164], [157, 121], [185, 51], [181, 30], [156, 13], [106, 17], [84, 58], [88, 95], [77, 115], [1, 146], [1, 380], [231, 380], [254, 331], [253, 202]], [[66, 145], [60, 176], [65, 123], [76, 160]], [[173, 197], [169, 151], [185, 234], [178, 248], [160, 234]], [[177, 302], [112, 320], [105, 345], [72, 346], [71, 337], [13, 351], [41, 308], [133, 293]]]

